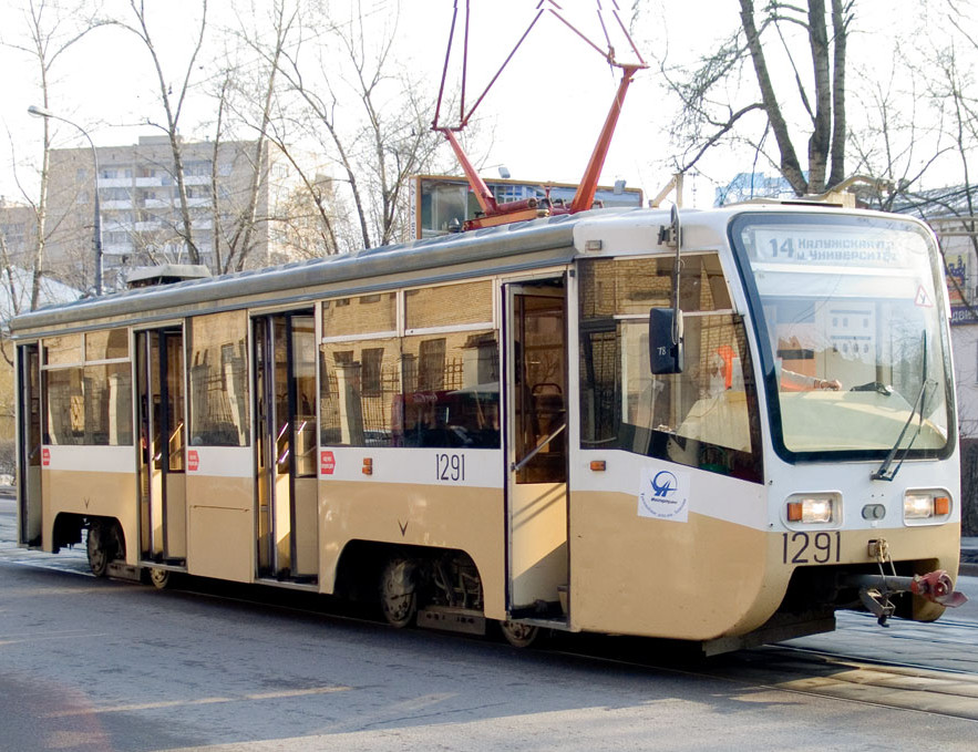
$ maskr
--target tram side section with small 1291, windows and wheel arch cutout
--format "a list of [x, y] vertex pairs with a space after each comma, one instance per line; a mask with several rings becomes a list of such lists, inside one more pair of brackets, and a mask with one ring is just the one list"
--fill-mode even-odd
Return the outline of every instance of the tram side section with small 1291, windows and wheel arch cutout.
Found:
[[359, 566], [361, 542], [370, 552], [364, 567], [412, 547], [428, 556], [461, 552], [478, 570], [486, 616], [502, 618], [492, 281], [325, 300], [321, 337], [321, 589], [333, 593], [338, 578], [352, 576], [347, 567]]

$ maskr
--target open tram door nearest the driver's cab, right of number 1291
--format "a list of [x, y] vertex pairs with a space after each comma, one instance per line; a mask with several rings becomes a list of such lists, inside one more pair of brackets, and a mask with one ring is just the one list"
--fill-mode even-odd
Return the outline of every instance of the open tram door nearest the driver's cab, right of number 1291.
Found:
[[[563, 280], [506, 288], [507, 609], [563, 618], [568, 584]], [[565, 600], [566, 602], [566, 600]]]

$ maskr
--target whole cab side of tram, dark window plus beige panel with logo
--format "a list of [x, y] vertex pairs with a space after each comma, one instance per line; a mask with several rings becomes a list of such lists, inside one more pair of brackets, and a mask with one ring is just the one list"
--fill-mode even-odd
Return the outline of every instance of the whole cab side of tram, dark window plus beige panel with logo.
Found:
[[[778, 608], [756, 384], [716, 253], [587, 259], [570, 465], [575, 628], [708, 640]], [[684, 313], [686, 364], [652, 373], [649, 310]]]

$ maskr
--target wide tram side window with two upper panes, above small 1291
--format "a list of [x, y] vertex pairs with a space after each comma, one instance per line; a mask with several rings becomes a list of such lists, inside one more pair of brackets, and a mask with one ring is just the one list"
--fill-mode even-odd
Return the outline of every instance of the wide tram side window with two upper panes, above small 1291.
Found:
[[492, 282], [323, 303], [320, 437], [332, 446], [500, 446]]

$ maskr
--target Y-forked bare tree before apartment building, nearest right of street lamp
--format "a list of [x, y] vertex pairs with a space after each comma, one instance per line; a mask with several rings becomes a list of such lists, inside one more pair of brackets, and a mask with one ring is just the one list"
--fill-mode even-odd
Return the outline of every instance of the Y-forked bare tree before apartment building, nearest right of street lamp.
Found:
[[183, 72], [183, 81], [178, 84], [176, 94], [174, 94], [173, 84], [167, 80], [163, 71], [163, 64], [159, 53], [153, 40], [147, 20], [145, 0], [130, 0], [130, 10], [132, 11], [133, 22], [115, 20], [119, 27], [135, 34], [143, 45], [153, 63], [156, 73], [156, 82], [159, 86], [159, 101], [166, 116], [166, 124], [159, 125], [169, 137], [169, 146], [173, 152], [173, 178], [176, 181], [177, 194], [179, 197], [179, 210], [183, 227], [179, 236], [187, 248], [187, 255], [192, 264], [200, 262], [200, 254], [197, 245], [194, 243], [193, 219], [191, 217], [189, 204], [187, 202], [187, 186], [184, 175], [183, 150], [181, 146], [179, 120], [183, 114], [183, 107], [191, 90], [191, 79], [197, 66], [197, 58], [204, 45], [205, 32], [207, 30], [207, 0], [200, 0], [200, 19], [195, 31], [195, 44], [187, 60], [186, 69]]

